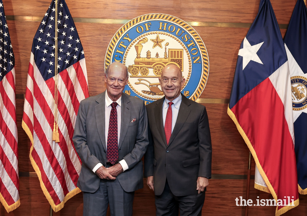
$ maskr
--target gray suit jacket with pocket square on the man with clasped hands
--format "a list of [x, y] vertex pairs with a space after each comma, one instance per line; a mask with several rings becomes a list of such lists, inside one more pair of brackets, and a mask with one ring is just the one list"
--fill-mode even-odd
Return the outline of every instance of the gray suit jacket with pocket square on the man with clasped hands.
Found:
[[[105, 141], [105, 94], [81, 101], [73, 141], [82, 161], [77, 186], [84, 192], [95, 192], [100, 179], [92, 171], [97, 163], [107, 162]], [[122, 94], [122, 122], [119, 138], [119, 158], [125, 159], [129, 169], [117, 176], [126, 192], [143, 188], [142, 157], [148, 145], [147, 113], [144, 101]], [[130, 123], [132, 119], [135, 122]], [[118, 162], [117, 161], [117, 162]]]

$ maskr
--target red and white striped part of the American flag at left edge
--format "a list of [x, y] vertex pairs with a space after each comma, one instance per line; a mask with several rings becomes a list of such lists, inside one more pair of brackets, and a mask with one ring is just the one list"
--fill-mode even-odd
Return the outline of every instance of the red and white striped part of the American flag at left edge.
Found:
[[7, 212], [19, 201], [15, 69], [0, 82], [0, 200]]

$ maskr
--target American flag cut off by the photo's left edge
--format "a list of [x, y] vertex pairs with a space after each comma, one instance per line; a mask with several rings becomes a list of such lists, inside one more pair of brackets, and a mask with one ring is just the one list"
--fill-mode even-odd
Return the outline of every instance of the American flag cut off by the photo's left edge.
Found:
[[14, 65], [9, 29], [0, 0], [0, 201], [7, 212], [20, 205]]

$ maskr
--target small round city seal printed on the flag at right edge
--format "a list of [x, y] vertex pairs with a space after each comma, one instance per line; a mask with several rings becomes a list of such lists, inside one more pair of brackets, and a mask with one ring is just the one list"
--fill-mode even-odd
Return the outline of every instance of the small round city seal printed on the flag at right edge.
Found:
[[306, 93], [307, 78], [302, 76], [291, 77], [292, 109], [303, 110], [307, 107]]

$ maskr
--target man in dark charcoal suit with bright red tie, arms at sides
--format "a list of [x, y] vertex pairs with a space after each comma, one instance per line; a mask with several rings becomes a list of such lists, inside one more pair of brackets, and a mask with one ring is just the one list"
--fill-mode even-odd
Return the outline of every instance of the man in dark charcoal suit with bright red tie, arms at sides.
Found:
[[201, 215], [211, 178], [211, 136], [206, 108], [183, 96], [181, 69], [166, 66], [159, 78], [165, 97], [146, 106], [149, 146], [147, 185], [155, 193], [156, 215]]

